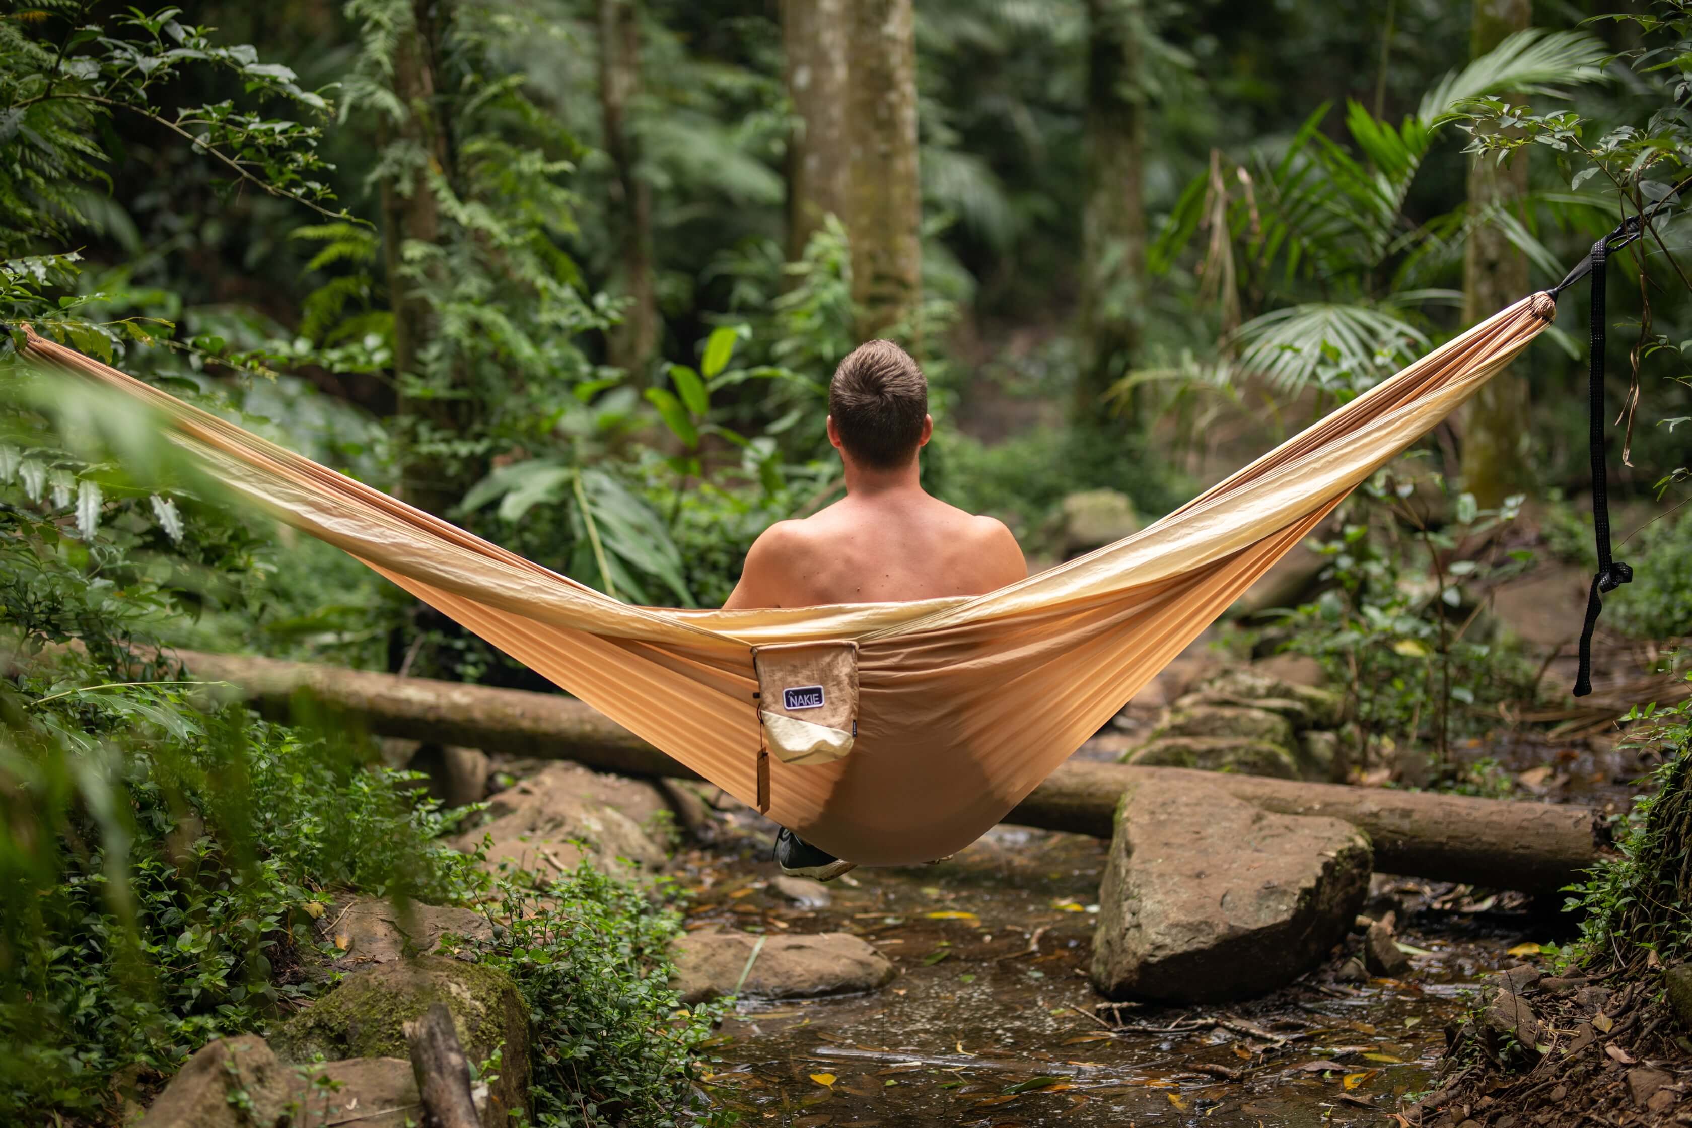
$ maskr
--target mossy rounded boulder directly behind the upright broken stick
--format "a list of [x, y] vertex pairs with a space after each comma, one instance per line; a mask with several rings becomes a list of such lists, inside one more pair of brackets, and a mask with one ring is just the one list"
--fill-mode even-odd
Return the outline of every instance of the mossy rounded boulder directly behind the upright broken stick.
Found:
[[271, 1035], [277, 1057], [310, 1062], [350, 1057], [406, 1057], [404, 1023], [445, 1003], [464, 1055], [482, 1062], [503, 1047], [499, 1081], [489, 1092], [484, 1123], [504, 1125], [528, 1113], [528, 1008], [511, 979], [494, 967], [443, 956], [376, 964], [293, 1016]]

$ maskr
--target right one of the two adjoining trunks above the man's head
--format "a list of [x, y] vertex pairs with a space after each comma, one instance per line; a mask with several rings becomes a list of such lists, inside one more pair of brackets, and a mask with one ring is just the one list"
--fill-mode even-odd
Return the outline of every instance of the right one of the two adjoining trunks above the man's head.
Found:
[[912, 0], [851, 7], [851, 296], [858, 338], [914, 337], [922, 296]]

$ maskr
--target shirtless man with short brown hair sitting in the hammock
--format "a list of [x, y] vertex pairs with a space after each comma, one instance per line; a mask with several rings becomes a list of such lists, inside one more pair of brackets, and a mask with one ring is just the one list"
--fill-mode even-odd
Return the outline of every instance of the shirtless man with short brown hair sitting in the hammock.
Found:
[[[919, 452], [934, 433], [929, 382], [892, 342], [873, 340], [829, 381], [829, 441], [846, 467], [846, 497], [804, 521], [765, 529], [724, 604], [817, 607], [981, 595], [1027, 577], [1017, 538], [922, 489]], [[782, 829], [785, 873], [829, 881], [854, 862]]]

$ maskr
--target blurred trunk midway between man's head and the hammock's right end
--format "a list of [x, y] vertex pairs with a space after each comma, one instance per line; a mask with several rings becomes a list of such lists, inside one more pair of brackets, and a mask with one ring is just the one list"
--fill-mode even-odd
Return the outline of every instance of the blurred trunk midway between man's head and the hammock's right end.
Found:
[[1076, 416], [1098, 418], [1140, 342], [1145, 293], [1145, 113], [1139, 0], [1088, 0], [1086, 198], [1081, 213], [1081, 374]]

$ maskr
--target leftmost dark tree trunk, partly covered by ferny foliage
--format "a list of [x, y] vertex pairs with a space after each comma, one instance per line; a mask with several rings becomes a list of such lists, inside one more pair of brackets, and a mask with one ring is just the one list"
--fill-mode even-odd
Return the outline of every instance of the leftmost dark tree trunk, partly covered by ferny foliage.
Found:
[[[394, 46], [393, 88], [404, 107], [404, 118], [386, 120], [379, 130], [382, 149], [389, 145], [415, 145], [426, 154], [426, 164], [399, 164], [398, 171], [381, 181], [382, 208], [382, 266], [394, 309], [394, 372], [401, 387], [406, 379], [421, 379], [420, 359], [435, 331], [430, 299], [415, 277], [406, 277], [404, 245], [435, 244], [440, 240], [440, 206], [430, 184], [431, 174], [450, 176], [452, 152], [447, 130], [440, 120], [435, 100], [435, 46], [445, 24], [452, 19], [450, 7], [415, 0], [411, 25], [403, 29]], [[421, 426], [435, 431], [459, 430], [457, 401], [399, 394], [396, 411], [411, 416]], [[462, 494], [462, 482], [437, 460], [408, 455], [401, 467], [401, 494], [420, 509], [443, 514]]]

